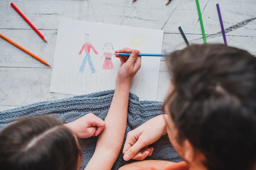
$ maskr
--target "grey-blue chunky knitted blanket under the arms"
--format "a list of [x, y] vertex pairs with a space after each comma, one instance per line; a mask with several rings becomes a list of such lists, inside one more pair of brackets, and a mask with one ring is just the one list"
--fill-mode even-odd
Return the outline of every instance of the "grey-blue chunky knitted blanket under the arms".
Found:
[[[47, 115], [62, 120], [64, 123], [72, 122], [87, 113], [94, 113], [96, 116], [105, 119], [110, 107], [114, 90], [74, 96], [62, 100], [38, 102], [24, 107], [0, 111], [0, 130], [15, 121], [18, 118]], [[132, 129], [143, 124], [150, 118], [163, 114], [161, 111], [162, 102], [157, 101], [139, 101], [139, 98], [130, 93], [128, 105], [128, 122], [126, 126], [126, 135]], [[125, 136], [126, 137], [126, 136]], [[83, 153], [83, 162], [80, 169], [83, 170], [94, 153], [97, 137], [79, 139], [79, 144]], [[124, 145], [124, 144], [123, 144]], [[148, 159], [182, 161], [171, 146], [167, 135], [162, 136], [157, 142], [152, 144], [154, 152]], [[123, 153], [120, 152], [117, 161], [112, 170], [118, 170], [119, 167], [131, 161], [123, 160]]]

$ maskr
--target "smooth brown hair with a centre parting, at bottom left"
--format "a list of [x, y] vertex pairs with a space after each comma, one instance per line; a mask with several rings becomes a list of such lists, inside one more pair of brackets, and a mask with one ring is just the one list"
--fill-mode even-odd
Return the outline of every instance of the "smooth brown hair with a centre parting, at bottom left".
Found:
[[74, 134], [53, 117], [18, 120], [0, 133], [1, 170], [76, 170], [79, 157]]

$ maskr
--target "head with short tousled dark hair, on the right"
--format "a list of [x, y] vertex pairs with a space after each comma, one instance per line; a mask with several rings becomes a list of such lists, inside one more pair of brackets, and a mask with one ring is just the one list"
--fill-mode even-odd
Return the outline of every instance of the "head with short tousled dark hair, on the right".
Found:
[[192, 45], [166, 57], [174, 85], [166, 104], [208, 170], [256, 165], [256, 58], [224, 44]]

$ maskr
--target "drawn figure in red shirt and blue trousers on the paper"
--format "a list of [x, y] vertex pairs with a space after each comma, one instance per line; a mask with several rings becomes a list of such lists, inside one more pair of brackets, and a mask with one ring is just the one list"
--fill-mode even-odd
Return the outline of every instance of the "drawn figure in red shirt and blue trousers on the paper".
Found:
[[79, 73], [83, 73], [87, 60], [88, 60], [88, 63], [90, 65], [91, 72], [92, 73], [96, 72], [95, 68], [92, 64], [92, 59], [91, 59], [91, 56], [90, 56], [90, 49], [92, 48], [92, 50], [95, 54], [98, 54], [98, 52], [97, 52], [97, 50], [95, 50], [95, 48], [89, 42], [89, 38], [90, 38], [90, 35], [85, 34], [85, 41], [86, 42], [85, 42], [85, 44], [83, 44], [83, 47], [81, 48], [80, 52], [78, 53], [80, 55], [83, 52], [83, 50], [85, 50], [85, 53], [86, 53], [85, 58], [83, 59], [83, 62], [82, 62], [81, 67], [79, 69]]

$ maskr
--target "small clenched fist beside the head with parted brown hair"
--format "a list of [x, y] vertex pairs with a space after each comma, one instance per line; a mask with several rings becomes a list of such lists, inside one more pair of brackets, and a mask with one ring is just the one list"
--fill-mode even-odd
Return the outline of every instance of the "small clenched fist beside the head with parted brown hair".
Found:
[[105, 127], [105, 122], [101, 118], [92, 113], [75, 120], [74, 122], [65, 124], [79, 138], [87, 138], [98, 136]]

